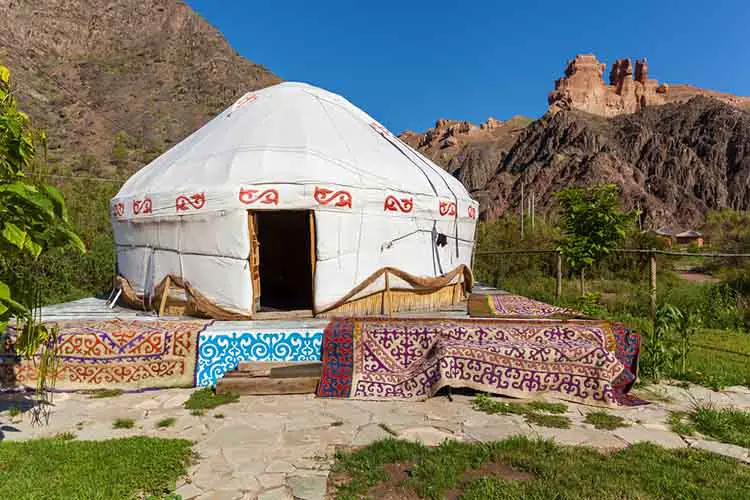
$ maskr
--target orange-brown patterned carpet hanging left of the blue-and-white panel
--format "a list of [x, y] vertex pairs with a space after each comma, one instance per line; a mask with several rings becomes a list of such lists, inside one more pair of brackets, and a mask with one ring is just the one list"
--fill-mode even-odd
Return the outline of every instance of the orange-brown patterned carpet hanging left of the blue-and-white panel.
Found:
[[[76, 320], [59, 327], [56, 390], [194, 385], [198, 335], [207, 321]], [[32, 360], [15, 356], [15, 332], [0, 337], [0, 388], [33, 387]]]

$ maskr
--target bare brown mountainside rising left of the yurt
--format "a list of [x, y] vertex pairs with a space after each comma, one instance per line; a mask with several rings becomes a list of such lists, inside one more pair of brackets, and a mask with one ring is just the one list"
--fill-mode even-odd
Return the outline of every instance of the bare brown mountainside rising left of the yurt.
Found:
[[124, 176], [280, 79], [177, 0], [0, 0], [0, 64], [59, 170]]

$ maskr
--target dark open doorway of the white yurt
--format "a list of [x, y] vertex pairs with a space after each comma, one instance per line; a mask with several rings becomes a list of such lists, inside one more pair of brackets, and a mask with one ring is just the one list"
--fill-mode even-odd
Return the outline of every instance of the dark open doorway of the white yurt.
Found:
[[[250, 212], [258, 259], [257, 312], [313, 309], [314, 219], [308, 211]], [[253, 235], [251, 234], [251, 238]]]

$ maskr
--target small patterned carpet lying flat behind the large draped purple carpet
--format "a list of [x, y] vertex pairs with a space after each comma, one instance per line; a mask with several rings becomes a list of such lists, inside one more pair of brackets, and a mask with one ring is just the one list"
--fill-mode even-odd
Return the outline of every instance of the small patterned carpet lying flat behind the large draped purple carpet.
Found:
[[572, 309], [512, 294], [471, 294], [469, 316], [475, 318], [581, 318]]

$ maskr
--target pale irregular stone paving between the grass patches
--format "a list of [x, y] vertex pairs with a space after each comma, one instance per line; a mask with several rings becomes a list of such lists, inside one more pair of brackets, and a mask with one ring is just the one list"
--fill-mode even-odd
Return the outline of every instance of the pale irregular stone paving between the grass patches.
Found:
[[[183, 403], [194, 389], [168, 389], [114, 398], [83, 394], [55, 396], [49, 426], [32, 427], [24, 415], [11, 420], [0, 414], [0, 439], [21, 440], [73, 432], [77, 439], [109, 439], [135, 435], [179, 437], [195, 442], [198, 460], [178, 482], [176, 493], [191, 499], [321, 500], [337, 447], [363, 446], [396, 436], [437, 445], [445, 439], [494, 441], [513, 435], [554, 439], [561, 444], [619, 449], [652, 441], [669, 448], [693, 447], [750, 462], [748, 450], [700, 436], [683, 438], [666, 423], [670, 410], [695, 403], [750, 409], [750, 389], [722, 392], [691, 386], [651, 386], [648, 406], [610, 410], [629, 426], [597, 430], [583, 420], [595, 408], [568, 404], [570, 429], [527, 424], [517, 415], [487, 415], [471, 408], [471, 397], [454, 395], [424, 402], [365, 402], [300, 396], [244, 396], [239, 402], [191, 415]], [[13, 401], [11, 398], [16, 398]], [[18, 404], [19, 396], [0, 395], [0, 411]], [[172, 427], [157, 428], [174, 417]], [[132, 418], [128, 430], [112, 428], [117, 418]]]

